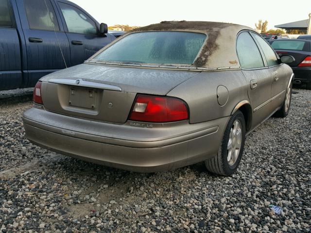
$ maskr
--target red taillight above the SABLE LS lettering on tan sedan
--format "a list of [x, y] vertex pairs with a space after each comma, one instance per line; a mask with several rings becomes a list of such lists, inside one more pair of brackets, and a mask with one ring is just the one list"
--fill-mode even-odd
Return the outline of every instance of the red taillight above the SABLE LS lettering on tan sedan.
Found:
[[146, 122], [186, 120], [188, 108], [184, 101], [173, 97], [138, 95], [129, 119]]

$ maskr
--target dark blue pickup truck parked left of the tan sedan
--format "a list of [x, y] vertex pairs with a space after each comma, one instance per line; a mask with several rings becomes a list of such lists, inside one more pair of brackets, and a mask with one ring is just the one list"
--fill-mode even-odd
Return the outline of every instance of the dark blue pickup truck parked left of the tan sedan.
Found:
[[0, 90], [35, 86], [116, 39], [67, 0], [0, 0]]

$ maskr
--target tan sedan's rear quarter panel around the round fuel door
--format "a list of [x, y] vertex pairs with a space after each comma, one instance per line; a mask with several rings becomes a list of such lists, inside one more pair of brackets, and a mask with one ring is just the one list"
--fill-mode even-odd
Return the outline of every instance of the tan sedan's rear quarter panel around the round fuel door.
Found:
[[[218, 103], [217, 88], [220, 85], [228, 90], [228, 100], [224, 105]], [[190, 123], [230, 116], [240, 101], [248, 100], [247, 82], [241, 70], [201, 72], [173, 88], [167, 95], [187, 102]]]

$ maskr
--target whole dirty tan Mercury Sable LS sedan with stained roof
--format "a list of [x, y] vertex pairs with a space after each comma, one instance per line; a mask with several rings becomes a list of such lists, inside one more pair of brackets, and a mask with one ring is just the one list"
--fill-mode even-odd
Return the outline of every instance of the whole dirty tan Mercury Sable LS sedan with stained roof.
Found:
[[26, 137], [121, 169], [154, 172], [206, 161], [208, 170], [231, 175], [245, 134], [282, 110], [292, 77], [248, 27], [153, 24], [82, 65], [43, 77], [35, 107], [23, 116]]

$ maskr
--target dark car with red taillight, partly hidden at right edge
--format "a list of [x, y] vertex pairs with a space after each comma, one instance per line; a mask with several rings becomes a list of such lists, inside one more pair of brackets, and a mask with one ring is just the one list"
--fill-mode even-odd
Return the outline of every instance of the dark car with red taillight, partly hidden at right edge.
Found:
[[294, 71], [294, 83], [306, 83], [307, 89], [311, 89], [311, 40], [283, 39], [273, 40], [270, 44], [281, 57], [291, 55], [295, 61], [288, 65]]

